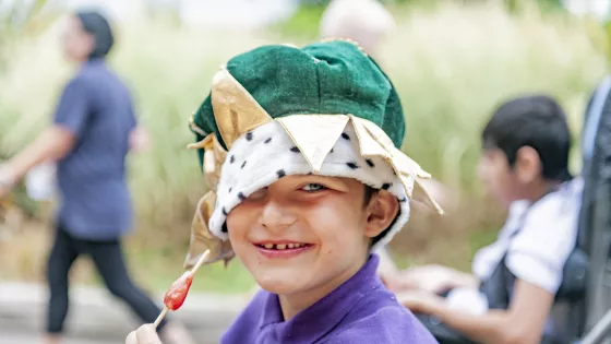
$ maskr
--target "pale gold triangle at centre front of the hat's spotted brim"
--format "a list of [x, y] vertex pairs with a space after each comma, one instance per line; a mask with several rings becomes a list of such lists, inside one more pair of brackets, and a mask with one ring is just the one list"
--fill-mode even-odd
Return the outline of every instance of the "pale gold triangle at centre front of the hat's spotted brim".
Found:
[[318, 174], [350, 118], [346, 115], [292, 115], [276, 120]]

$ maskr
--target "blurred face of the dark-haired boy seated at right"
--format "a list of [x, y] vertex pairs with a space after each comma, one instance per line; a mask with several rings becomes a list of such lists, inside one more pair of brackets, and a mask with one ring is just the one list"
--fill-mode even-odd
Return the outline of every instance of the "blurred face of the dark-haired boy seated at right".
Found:
[[477, 171], [488, 191], [503, 205], [508, 206], [513, 201], [519, 199], [519, 183], [503, 151], [484, 150], [480, 156]]

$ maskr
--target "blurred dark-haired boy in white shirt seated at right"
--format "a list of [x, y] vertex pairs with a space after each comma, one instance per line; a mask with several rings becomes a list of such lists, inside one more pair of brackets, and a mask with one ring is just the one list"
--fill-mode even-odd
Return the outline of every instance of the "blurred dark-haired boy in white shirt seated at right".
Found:
[[[386, 285], [412, 311], [439, 317], [476, 342], [553, 339], [558, 329], [549, 317], [575, 249], [583, 191], [582, 178], [568, 171], [564, 111], [548, 96], [512, 99], [496, 109], [482, 141], [478, 175], [508, 209], [496, 241], [477, 252], [472, 273], [417, 266], [388, 277]], [[500, 275], [510, 282], [499, 282]], [[502, 283], [510, 285], [496, 285]], [[511, 290], [506, 309], [494, 297], [501, 288]]]

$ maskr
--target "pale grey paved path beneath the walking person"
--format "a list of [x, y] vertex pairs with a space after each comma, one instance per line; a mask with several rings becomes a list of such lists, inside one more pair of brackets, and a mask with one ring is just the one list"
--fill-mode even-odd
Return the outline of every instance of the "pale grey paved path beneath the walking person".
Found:
[[[0, 343], [38, 344], [46, 298], [44, 286], [0, 283]], [[182, 321], [200, 344], [212, 344], [218, 343], [243, 306], [244, 299], [236, 296], [193, 294], [172, 317]], [[123, 343], [137, 327], [130, 310], [104, 289], [73, 288], [70, 307], [64, 344]]]

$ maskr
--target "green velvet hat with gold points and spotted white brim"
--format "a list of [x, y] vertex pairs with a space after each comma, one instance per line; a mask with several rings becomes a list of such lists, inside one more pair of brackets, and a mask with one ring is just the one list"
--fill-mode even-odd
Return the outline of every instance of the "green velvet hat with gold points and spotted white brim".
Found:
[[230, 258], [227, 214], [286, 175], [355, 178], [395, 194], [400, 214], [374, 246], [405, 225], [414, 183], [429, 177], [398, 150], [405, 118], [393, 84], [352, 41], [264, 46], [232, 58], [190, 124], [212, 190], [197, 206], [188, 265], [203, 249], [211, 260]]

